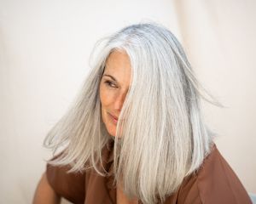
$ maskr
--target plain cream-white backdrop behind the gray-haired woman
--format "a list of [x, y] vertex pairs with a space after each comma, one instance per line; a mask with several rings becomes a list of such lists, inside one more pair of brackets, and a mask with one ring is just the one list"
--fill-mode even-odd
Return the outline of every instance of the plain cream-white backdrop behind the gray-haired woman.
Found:
[[101, 37], [153, 20], [182, 42], [202, 84], [216, 143], [256, 193], [256, 3], [253, 0], [0, 0], [0, 203], [30, 203], [63, 115]]

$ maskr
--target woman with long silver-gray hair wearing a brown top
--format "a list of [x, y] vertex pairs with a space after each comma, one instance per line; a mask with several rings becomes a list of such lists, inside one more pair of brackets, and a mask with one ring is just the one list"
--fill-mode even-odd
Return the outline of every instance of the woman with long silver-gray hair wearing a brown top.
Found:
[[125, 27], [95, 61], [48, 134], [62, 151], [34, 203], [251, 203], [202, 120], [200, 98], [212, 98], [170, 31]]

